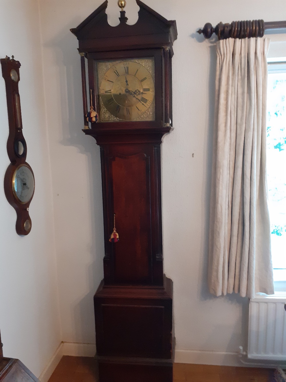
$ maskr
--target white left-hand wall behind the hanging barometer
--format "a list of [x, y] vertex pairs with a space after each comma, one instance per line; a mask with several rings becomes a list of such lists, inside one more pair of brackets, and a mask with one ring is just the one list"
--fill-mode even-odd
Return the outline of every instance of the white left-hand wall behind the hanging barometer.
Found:
[[19, 358], [39, 376], [61, 341], [56, 280], [51, 172], [45, 120], [39, 6], [36, 0], [0, 0], [0, 57], [22, 64], [19, 92], [27, 162], [35, 174], [30, 206], [32, 230], [18, 236], [16, 212], [7, 202], [3, 178], [8, 117], [0, 76], [0, 329], [4, 356]]

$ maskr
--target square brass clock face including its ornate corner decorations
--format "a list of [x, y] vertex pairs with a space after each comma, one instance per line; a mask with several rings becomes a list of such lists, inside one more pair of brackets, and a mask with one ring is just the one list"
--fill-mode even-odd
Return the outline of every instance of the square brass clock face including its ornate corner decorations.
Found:
[[154, 121], [154, 58], [97, 62], [100, 121]]

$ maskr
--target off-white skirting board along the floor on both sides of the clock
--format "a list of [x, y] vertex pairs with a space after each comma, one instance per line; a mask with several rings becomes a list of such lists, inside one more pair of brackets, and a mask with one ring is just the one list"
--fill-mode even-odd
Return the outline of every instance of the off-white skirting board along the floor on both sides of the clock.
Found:
[[[95, 344], [62, 342], [56, 350], [45, 370], [39, 377], [40, 382], [48, 382], [62, 356], [94, 357]], [[219, 351], [176, 350], [176, 363], [195, 363], [205, 365], [243, 366], [238, 353], [224, 353]]]

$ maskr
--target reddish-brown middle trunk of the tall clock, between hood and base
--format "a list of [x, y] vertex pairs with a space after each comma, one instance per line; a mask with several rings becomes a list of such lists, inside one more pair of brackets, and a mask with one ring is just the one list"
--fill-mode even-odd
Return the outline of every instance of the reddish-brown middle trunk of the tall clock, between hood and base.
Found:
[[[103, 200], [107, 283], [162, 284], [161, 197], [157, 188], [160, 172], [159, 145], [111, 144], [102, 147]], [[113, 228], [117, 243], [108, 241]]]

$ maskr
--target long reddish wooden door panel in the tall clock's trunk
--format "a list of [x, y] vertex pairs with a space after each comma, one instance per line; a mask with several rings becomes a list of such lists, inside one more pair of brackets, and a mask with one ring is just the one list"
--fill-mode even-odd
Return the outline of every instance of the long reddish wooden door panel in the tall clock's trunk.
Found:
[[150, 158], [140, 147], [121, 147], [109, 158], [119, 242], [114, 247], [114, 281], [151, 282]]

